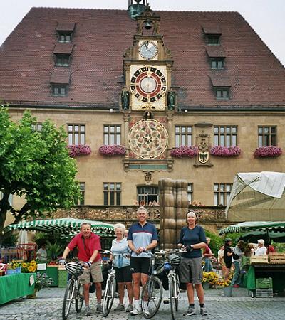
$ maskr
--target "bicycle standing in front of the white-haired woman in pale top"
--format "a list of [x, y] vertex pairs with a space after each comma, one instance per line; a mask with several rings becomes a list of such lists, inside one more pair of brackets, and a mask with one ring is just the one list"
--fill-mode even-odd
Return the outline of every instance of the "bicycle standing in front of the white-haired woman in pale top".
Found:
[[[117, 256], [127, 257], [126, 255], [115, 255], [108, 250], [105, 250], [101, 253], [105, 255], [113, 255], [113, 257], [117, 257]], [[114, 259], [113, 259], [112, 266], [108, 271], [108, 278], [107, 278], [106, 287], [105, 287], [103, 300], [102, 300], [102, 314], [104, 317], [108, 316], [108, 314], [110, 313], [110, 309], [113, 306], [113, 301], [115, 298], [115, 289], [116, 289], [116, 279], [115, 279], [115, 269], [114, 269]]]

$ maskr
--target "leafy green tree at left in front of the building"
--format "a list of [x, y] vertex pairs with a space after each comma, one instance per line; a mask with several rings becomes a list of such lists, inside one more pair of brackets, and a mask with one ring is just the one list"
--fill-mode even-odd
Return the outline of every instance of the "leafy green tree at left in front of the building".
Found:
[[[0, 235], [9, 211], [14, 223], [44, 218], [57, 208], [69, 208], [80, 196], [76, 162], [68, 155], [63, 128], [47, 120], [37, 132], [34, 123], [27, 111], [19, 123], [13, 122], [8, 108], [0, 106]], [[10, 206], [10, 194], [25, 198], [20, 210]]]

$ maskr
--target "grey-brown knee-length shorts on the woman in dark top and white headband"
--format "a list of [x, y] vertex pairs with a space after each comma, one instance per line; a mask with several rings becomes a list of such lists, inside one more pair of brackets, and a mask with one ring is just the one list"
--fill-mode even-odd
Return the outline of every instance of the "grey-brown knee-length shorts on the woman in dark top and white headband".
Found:
[[185, 258], [180, 262], [180, 282], [202, 284], [203, 268], [202, 257]]

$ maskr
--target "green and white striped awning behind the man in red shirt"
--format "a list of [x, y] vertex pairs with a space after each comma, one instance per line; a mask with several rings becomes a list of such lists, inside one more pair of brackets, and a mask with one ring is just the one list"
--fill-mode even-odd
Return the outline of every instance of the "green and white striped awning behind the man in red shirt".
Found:
[[24, 221], [9, 225], [9, 230], [36, 230], [44, 233], [60, 233], [62, 237], [76, 235], [80, 232], [81, 223], [90, 223], [92, 231], [100, 237], [113, 237], [114, 227], [102, 221], [60, 218], [48, 220]]

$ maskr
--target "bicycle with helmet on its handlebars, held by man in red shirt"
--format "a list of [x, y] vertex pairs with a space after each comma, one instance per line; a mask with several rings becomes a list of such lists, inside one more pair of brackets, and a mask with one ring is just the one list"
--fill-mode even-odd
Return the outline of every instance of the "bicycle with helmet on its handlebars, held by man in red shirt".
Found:
[[71, 274], [71, 278], [68, 280], [66, 292], [63, 297], [63, 320], [68, 318], [68, 314], [71, 311], [71, 304], [75, 302], [76, 312], [79, 313], [83, 306], [83, 285], [79, 282], [78, 277], [83, 274], [83, 266], [76, 262], [66, 262], [66, 270]]

